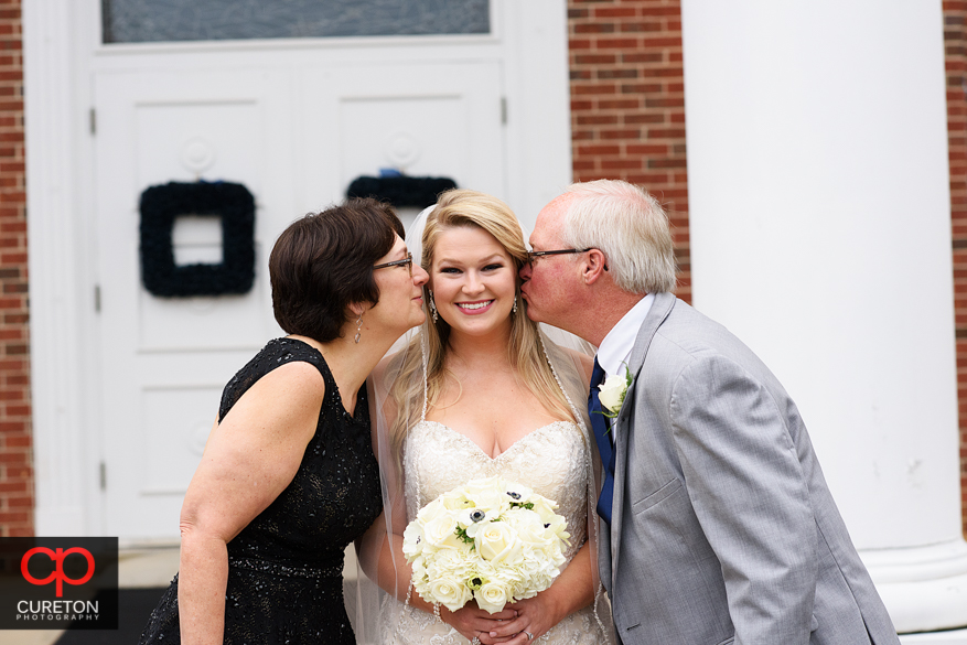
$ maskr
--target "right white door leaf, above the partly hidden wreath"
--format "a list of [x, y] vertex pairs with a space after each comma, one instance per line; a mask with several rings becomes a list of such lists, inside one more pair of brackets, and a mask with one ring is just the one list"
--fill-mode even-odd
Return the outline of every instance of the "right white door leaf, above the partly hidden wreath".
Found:
[[307, 208], [380, 169], [505, 194], [501, 84], [495, 62], [305, 69]]

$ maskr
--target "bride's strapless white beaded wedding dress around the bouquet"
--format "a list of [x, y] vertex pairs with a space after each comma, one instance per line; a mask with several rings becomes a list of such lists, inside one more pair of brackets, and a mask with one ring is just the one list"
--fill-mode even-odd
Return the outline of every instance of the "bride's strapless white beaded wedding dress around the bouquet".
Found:
[[[579, 426], [557, 421], [538, 428], [517, 440], [507, 450], [491, 458], [468, 437], [436, 421], [419, 421], [407, 434], [404, 472], [407, 520], [440, 494], [479, 477], [501, 475], [524, 484], [558, 503], [557, 512], [568, 520], [570, 547], [565, 556], [570, 562], [584, 544], [588, 520], [588, 477], [590, 455]], [[384, 643], [395, 645], [466, 645], [468, 639], [433, 614], [396, 604], [384, 610], [400, 612], [394, 634], [384, 634]], [[600, 614], [610, 619], [602, 603]], [[609, 620], [610, 622], [610, 620]], [[608, 643], [599, 626], [593, 604], [572, 613], [535, 643], [552, 645], [598, 645]]]

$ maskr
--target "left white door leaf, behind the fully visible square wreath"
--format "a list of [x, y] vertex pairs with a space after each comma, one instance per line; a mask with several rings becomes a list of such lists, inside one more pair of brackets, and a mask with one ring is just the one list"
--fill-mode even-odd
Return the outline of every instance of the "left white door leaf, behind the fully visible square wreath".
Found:
[[[292, 218], [292, 185], [290, 173], [266, 168], [292, 164], [280, 126], [288, 78], [101, 73], [95, 95], [105, 530], [127, 540], [176, 538], [224, 384], [280, 333], [265, 249]], [[140, 279], [139, 196], [151, 185], [198, 179], [241, 183], [255, 196], [255, 284], [244, 295], [155, 297]], [[197, 237], [187, 230], [175, 240]]]

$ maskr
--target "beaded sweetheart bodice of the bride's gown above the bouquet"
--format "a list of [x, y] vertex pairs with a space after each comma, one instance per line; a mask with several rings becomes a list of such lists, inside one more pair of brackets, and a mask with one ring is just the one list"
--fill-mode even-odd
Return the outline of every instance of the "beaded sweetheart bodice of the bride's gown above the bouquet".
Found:
[[407, 520], [440, 494], [470, 480], [501, 475], [558, 503], [568, 520], [570, 560], [584, 541], [588, 516], [588, 447], [581, 429], [556, 421], [522, 437], [492, 458], [468, 437], [436, 421], [420, 421], [407, 437]]

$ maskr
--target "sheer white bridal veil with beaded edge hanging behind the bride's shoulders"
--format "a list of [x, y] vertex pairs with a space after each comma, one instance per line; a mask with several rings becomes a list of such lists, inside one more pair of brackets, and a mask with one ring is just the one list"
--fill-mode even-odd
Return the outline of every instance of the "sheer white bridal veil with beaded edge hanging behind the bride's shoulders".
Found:
[[[407, 245], [413, 260], [425, 268], [422, 233], [427, 217], [436, 206], [426, 208], [417, 217], [407, 233]], [[522, 230], [523, 233], [523, 230]], [[526, 239], [526, 236], [525, 236]], [[426, 297], [425, 302], [429, 302]], [[519, 313], [526, 315], [525, 307], [518, 304]], [[379, 462], [383, 486], [384, 510], [376, 525], [356, 542], [358, 557], [358, 584], [355, 599], [350, 595], [347, 605], [355, 616], [354, 628], [358, 643], [366, 645], [396, 643], [401, 615], [401, 603], [411, 594], [410, 568], [401, 555], [402, 531], [407, 526], [407, 503], [405, 496], [404, 452], [406, 433], [420, 419], [426, 417], [427, 407], [434, 393], [428, 387], [427, 374], [439, 368], [436, 363], [440, 356], [430, 355], [427, 334], [429, 325], [434, 324], [427, 308], [427, 319], [422, 325], [410, 330], [401, 337], [370, 376], [369, 407], [373, 426], [373, 450]], [[587, 539], [591, 542], [591, 563], [593, 570], [593, 594], [595, 617], [608, 614], [610, 608], [598, 577], [599, 524], [595, 512], [600, 482], [600, 460], [597, 443], [590, 434], [587, 412], [588, 376], [583, 365], [584, 357], [594, 353], [593, 347], [577, 336], [540, 325], [539, 351], [551, 367], [557, 386], [568, 401], [570, 415], [580, 427], [585, 451], [587, 485]], [[498, 402], [495, 401], [495, 405]], [[460, 464], [453, 464], [459, 469]], [[421, 501], [422, 504], [430, 499]], [[355, 601], [355, 602], [354, 602]], [[399, 601], [399, 602], [397, 602]], [[355, 608], [353, 605], [355, 604]], [[352, 611], [355, 609], [355, 611]], [[602, 622], [599, 625], [604, 630]], [[605, 621], [610, 624], [610, 620]], [[608, 630], [610, 632], [610, 630]]]

